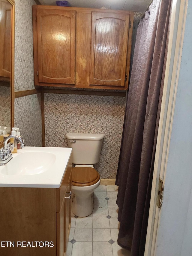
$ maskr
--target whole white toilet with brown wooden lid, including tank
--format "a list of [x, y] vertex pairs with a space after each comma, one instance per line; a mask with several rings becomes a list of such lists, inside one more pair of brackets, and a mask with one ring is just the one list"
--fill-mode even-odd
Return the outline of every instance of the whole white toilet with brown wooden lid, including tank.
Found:
[[93, 211], [93, 191], [100, 185], [100, 175], [93, 164], [99, 162], [104, 134], [67, 133], [68, 147], [73, 148], [72, 212], [86, 217]]

